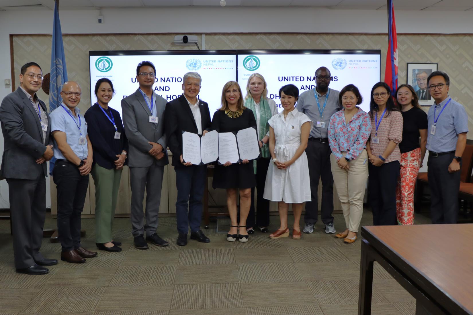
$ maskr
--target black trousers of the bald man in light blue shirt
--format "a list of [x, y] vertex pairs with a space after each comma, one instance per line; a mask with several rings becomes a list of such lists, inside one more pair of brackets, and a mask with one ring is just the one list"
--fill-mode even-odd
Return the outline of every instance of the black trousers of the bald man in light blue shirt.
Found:
[[69, 161], [57, 160], [53, 180], [58, 194], [58, 238], [63, 252], [80, 247], [80, 215], [86, 200], [89, 176]]

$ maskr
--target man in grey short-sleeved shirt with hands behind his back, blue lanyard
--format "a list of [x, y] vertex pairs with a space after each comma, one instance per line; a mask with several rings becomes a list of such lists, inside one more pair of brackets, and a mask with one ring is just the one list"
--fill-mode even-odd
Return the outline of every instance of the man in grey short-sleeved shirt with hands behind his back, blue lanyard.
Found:
[[335, 233], [333, 227], [333, 177], [330, 167], [330, 146], [327, 128], [330, 117], [342, 109], [338, 100], [339, 91], [328, 87], [331, 81], [330, 70], [320, 67], [315, 71], [316, 87], [300, 94], [297, 109], [306, 114], [313, 122], [307, 143], [307, 160], [309, 161], [310, 192], [312, 201], [306, 202], [304, 233], [312, 233], [317, 222], [319, 179], [322, 178], [321, 218], [325, 224], [325, 233]]

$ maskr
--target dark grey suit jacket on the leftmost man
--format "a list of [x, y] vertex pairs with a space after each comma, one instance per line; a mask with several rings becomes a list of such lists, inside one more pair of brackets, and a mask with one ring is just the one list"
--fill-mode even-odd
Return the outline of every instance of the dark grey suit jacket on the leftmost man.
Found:
[[[46, 105], [39, 101], [43, 111]], [[46, 141], [43, 145], [43, 130], [39, 117], [29, 98], [18, 87], [8, 94], [0, 105], [0, 122], [3, 133], [3, 159], [1, 175], [11, 179], [37, 179], [40, 174], [48, 176], [46, 162], [36, 164], [43, 156], [46, 145], [53, 145], [51, 118], [48, 116]]]

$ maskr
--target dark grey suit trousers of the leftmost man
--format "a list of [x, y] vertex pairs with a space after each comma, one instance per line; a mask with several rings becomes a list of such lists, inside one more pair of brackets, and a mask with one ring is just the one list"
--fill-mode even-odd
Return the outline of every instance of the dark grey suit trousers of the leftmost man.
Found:
[[10, 200], [15, 267], [22, 269], [44, 257], [39, 252], [43, 241], [46, 212], [46, 179], [7, 179]]

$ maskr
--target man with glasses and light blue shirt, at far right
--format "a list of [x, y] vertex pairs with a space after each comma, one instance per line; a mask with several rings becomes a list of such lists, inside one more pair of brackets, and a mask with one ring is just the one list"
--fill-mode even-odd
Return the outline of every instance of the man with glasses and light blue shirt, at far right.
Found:
[[432, 72], [427, 82], [430, 95], [435, 100], [427, 114], [427, 175], [432, 200], [432, 223], [456, 223], [468, 115], [464, 107], [448, 95], [450, 78], [445, 72]]

